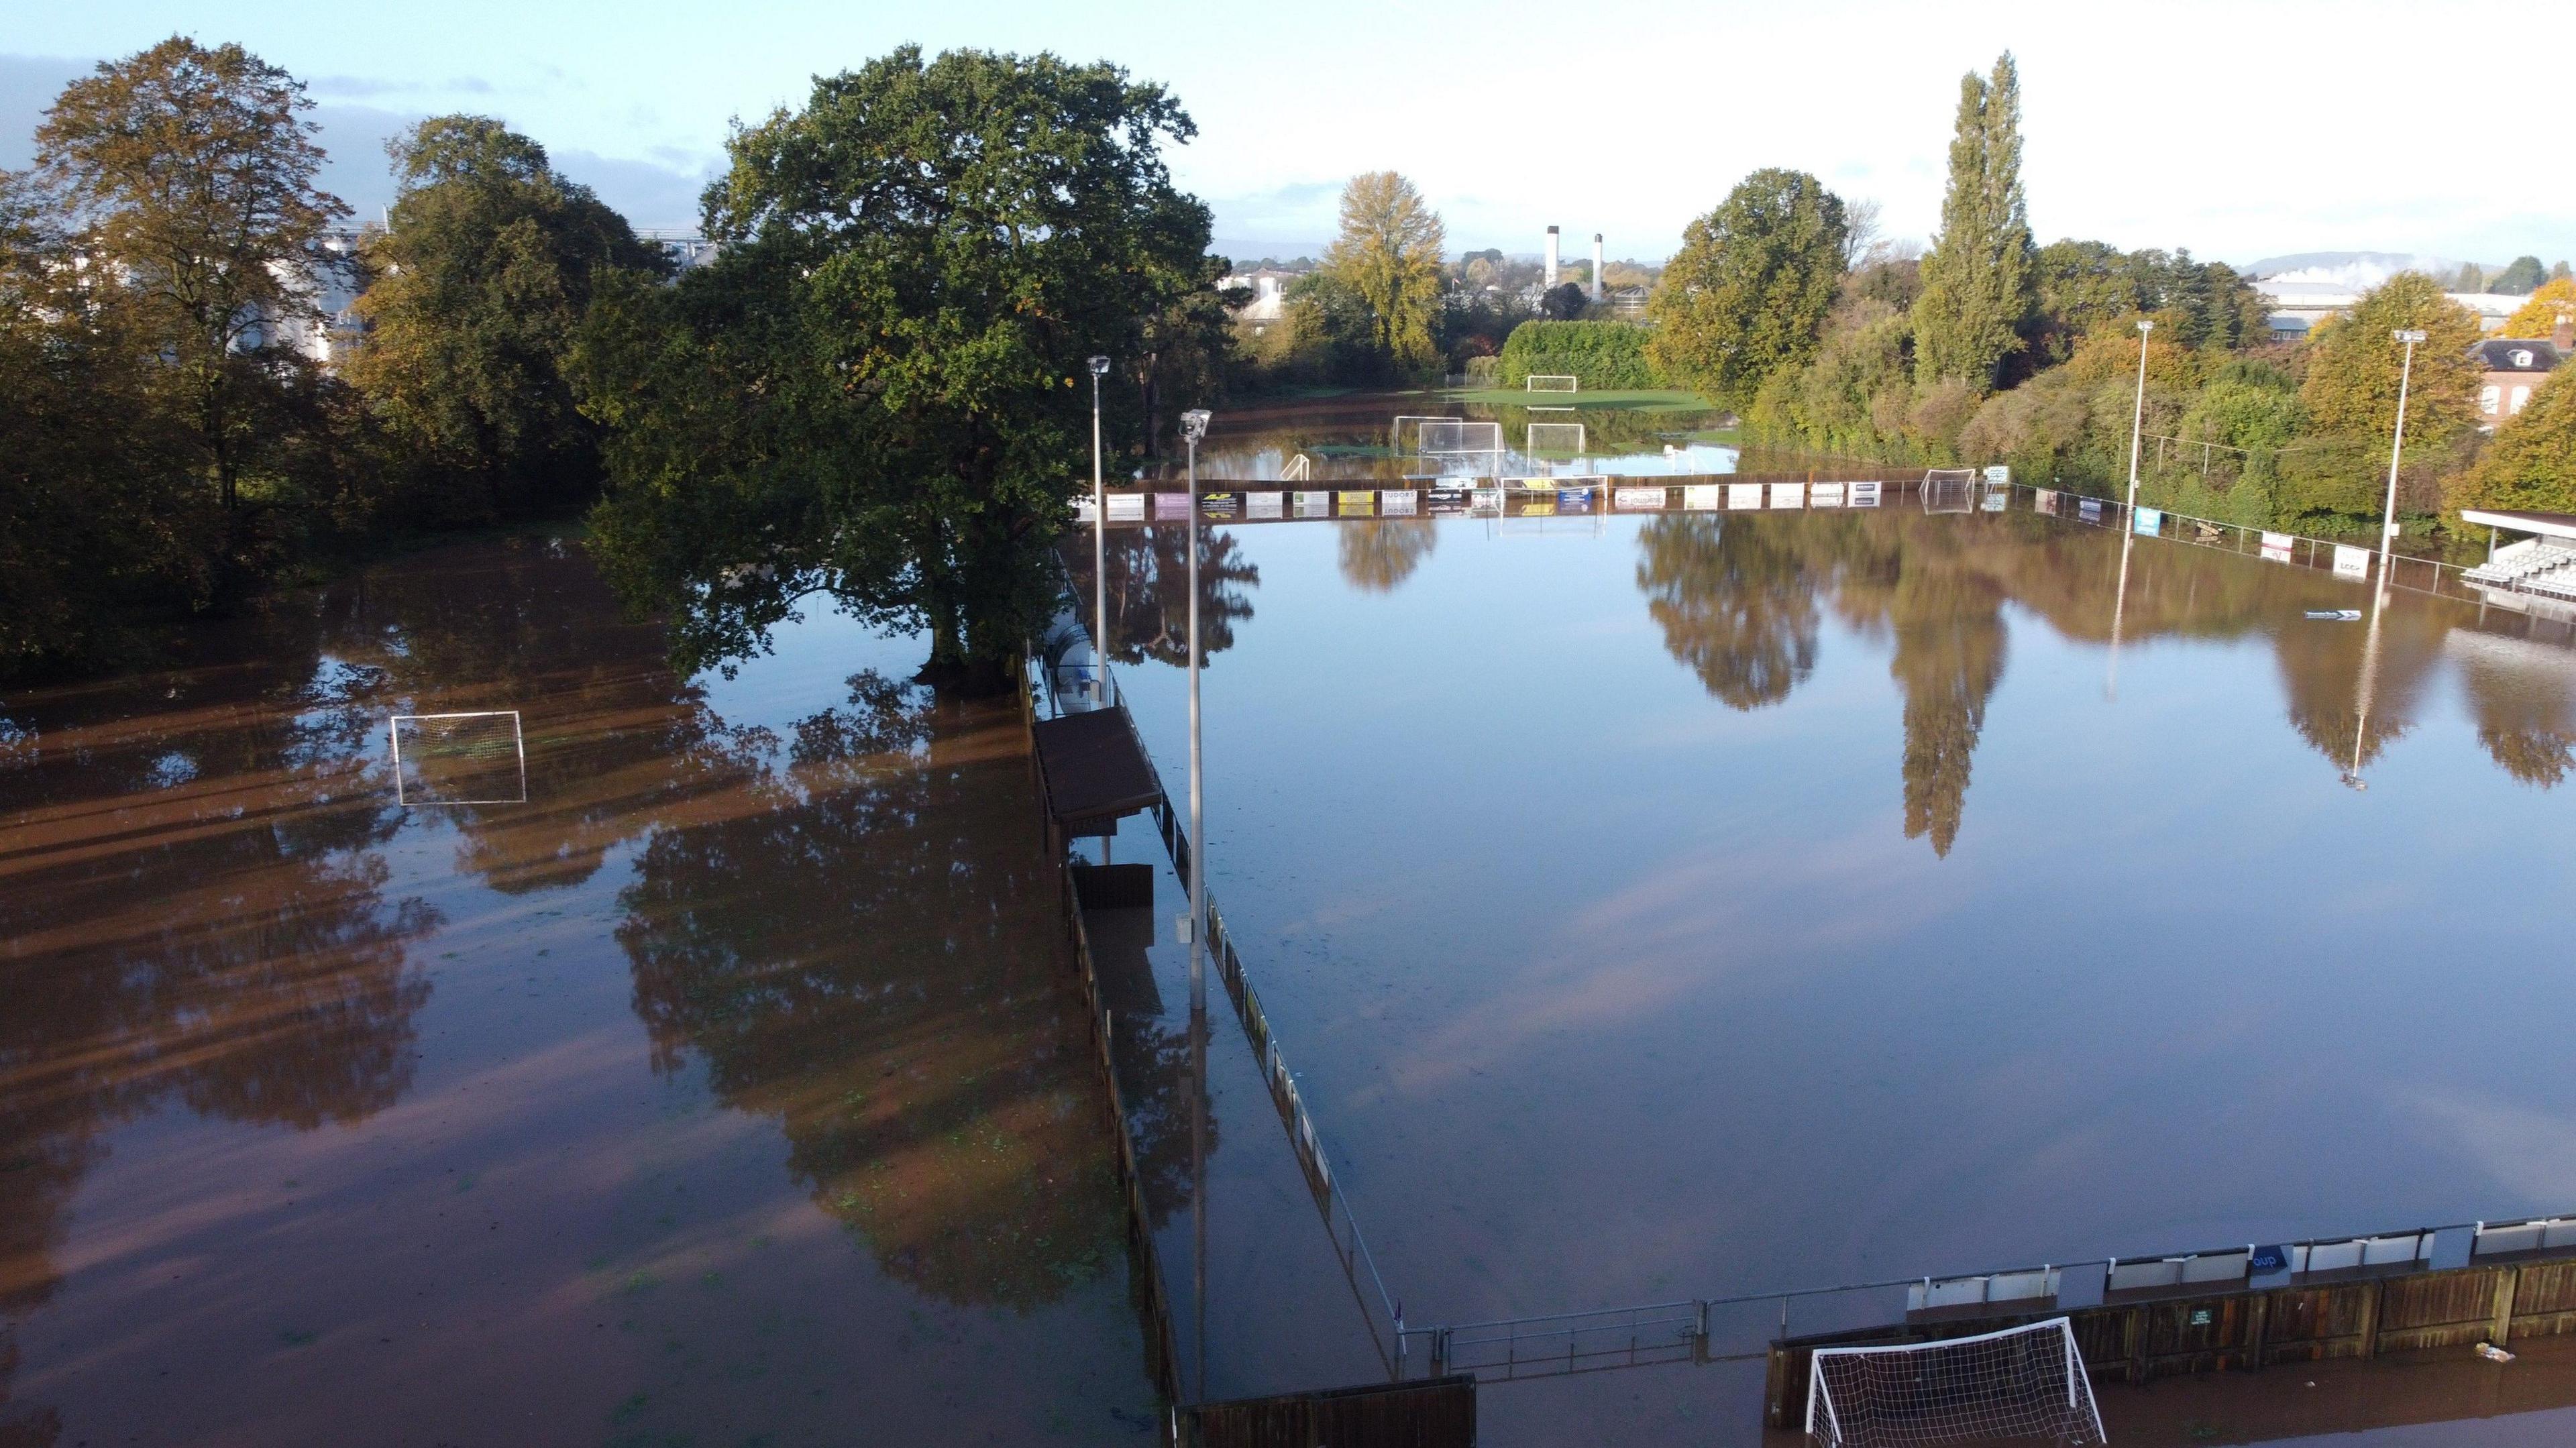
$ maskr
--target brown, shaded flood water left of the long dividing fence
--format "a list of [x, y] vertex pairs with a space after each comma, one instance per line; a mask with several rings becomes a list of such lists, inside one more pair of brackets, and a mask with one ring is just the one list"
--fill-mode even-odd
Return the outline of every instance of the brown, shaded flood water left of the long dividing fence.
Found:
[[[0, 1445], [1149, 1440], [1020, 721], [917, 662], [680, 680], [515, 541], [0, 698]], [[397, 804], [474, 709], [528, 801]]]

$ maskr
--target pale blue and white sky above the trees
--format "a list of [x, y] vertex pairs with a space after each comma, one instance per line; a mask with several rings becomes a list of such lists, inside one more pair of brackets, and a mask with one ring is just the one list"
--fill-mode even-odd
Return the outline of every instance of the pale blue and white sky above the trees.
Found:
[[2555, 126], [2555, 82], [2478, 72], [2576, 52], [2576, 5], [90, 0], [0, 26], [0, 165], [23, 165], [67, 75], [173, 31], [307, 77], [330, 180], [361, 206], [386, 193], [374, 147], [404, 116], [482, 111], [639, 224], [685, 227], [729, 119], [920, 41], [1167, 82], [1200, 126], [1175, 170], [1236, 250], [1321, 242], [1342, 178], [1376, 167], [1422, 186], [1453, 247], [1535, 252], [1556, 222], [1569, 252], [1605, 232], [1613, 258], [1662, 258], [1759, 165], [1814, 170], [1919, 240], [1958, 77], [2009, 46], [2040, 240], [2576, 255], [2576, 193], [2504, 144]]

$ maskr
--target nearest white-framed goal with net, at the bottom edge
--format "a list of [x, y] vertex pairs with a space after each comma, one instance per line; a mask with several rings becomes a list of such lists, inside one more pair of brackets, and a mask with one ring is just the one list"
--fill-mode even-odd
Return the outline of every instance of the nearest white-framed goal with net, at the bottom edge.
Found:
[[2063, 1317], [1942, 1342], [1816, 1348], [1806, 1435], [1824, 1448], [2107, 1443]]

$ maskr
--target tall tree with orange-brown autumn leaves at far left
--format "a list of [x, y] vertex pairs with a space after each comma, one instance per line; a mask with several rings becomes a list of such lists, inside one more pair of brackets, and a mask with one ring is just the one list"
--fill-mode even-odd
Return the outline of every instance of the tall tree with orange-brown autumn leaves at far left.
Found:
[[36, 126], [36, 178], [103, 281], [98, 304], [155, 348], [160, 392], [216, 500], [278, 433], [299, 386], [296, 330], [322, 327], [325, 229], [348, 216], [314, 186], [322, 147], [304, 85], [242, 46], [173, 36], [103, 62]]

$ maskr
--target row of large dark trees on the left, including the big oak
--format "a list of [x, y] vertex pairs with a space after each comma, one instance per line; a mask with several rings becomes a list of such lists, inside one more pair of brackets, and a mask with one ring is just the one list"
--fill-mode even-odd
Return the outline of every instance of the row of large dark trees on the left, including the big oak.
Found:
[[822, 590], [992, 680], [1090, 472], [1087, 358], [1118, 459], [1224, 384], [1226, 263], [1164, 162], [1195, 129], [1113, 64], [907, 46], [819, 77], [734, 131], [685, 273], [484, 116], [397, 137], [386, 224], [353, 232], [309, 111], [170, 39], [0, 173], [0, 678], [587, 510], [688, 667]]

